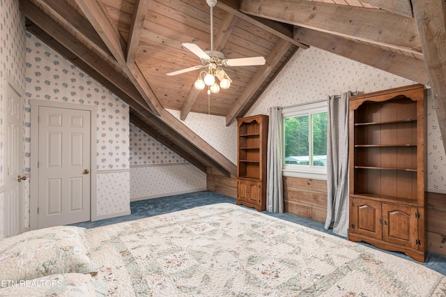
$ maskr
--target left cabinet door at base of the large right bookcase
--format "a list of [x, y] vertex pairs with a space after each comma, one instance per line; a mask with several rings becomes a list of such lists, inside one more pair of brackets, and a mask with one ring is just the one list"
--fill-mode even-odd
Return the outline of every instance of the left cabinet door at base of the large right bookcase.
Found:
[[383, 238], [381, 227], [381, 203], [379, 201], [353, 198], [351, 208], [351, 231], [371, 238]]

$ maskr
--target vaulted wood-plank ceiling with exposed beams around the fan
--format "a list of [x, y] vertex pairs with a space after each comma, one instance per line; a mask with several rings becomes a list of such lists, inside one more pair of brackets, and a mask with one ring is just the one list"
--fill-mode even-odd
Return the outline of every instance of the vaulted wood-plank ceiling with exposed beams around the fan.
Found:
[[[236, 165], [187, 128], [190, 112], [244, 116], [297, 50], [310, 46], [431, 86], [446, 143], [445, 1], [20, 0], [26, 29], [130, 105], [130, 121], [206, 172]], [[182, 43], [263, 66], [225, 67], [229, 89], [193, 84], [201, 65]], [[180, 120], [166, 109], [180, 111]]]

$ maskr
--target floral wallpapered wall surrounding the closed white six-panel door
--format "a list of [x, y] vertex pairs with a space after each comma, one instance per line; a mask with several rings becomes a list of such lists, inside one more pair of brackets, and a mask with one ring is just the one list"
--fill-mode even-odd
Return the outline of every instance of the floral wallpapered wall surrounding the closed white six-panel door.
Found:
[[[31, 33], [26, 33], [25, 96], [30, 100], [97, 106], [97, 215], [129, 211], [128, 105]], [[26, 127], [25, 155], [27, 157], [25, 169], [30, 171], [31, 107], [29, 101], [26, 101], [28, 104], [26, 105], [24, 125]], [[118, 184], [121, 186], [116, 188]], [[29, 203], [29, 198], [27, 203]], [[29, 208], [28, 205], [27, 207]], [[29, 222], [28, 219], [27, 222]]]

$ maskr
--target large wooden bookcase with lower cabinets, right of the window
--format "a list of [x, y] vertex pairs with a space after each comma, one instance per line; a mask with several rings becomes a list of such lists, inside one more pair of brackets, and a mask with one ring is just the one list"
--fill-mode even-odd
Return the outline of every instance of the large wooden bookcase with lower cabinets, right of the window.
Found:
[[424, 87], [353, 96], [349, 103], [348, 239], [424, 262]]

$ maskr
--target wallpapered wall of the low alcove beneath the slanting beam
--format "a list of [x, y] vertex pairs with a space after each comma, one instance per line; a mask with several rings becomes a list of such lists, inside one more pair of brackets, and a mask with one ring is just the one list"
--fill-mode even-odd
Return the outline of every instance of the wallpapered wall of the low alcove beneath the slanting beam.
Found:
[[130, 199], [206, 190], [206, 174], [130, 123]]

